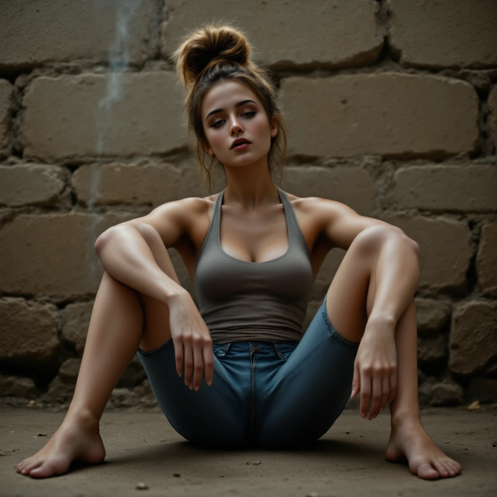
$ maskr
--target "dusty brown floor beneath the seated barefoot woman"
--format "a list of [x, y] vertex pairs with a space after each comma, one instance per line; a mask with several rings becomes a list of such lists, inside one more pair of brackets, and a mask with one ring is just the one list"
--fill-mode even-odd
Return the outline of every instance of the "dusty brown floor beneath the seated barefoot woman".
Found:
[[[203, 450], [178, 435], [162, 413], [106, 412], [105, 463], [47, 480], [17, 474], [14, 465], [41, 448], [63, 417], [0, 409], [1, 497], [496, 495], [497, 409], [490, 407], [422, 411], [427, 432], [463, 467], [458, 477], [437, 481], [420, 480], [407, 465], [385, 459], [387, 411], [369, 421], [355, 410], [343, 411], [305, 451]], [[140, 482], [148, 490], [137, 490]]]

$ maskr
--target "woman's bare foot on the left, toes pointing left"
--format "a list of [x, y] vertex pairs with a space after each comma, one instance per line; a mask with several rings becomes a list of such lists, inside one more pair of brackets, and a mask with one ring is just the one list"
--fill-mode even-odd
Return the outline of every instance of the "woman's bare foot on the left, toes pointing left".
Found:
[[18, 473], [33, 478], [62, 475], [75, 460], [97, 464], [105, 458], [98, 421], [89, 415], [66, 416], [59, 429], [34, 456], [15, 467]]

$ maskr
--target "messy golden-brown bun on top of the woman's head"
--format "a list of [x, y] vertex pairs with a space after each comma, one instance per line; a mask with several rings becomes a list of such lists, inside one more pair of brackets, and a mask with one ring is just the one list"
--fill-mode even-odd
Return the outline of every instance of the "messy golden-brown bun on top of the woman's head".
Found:
[[244, 32], [217, 21], [184, 35], [169, 60], [176, 66], [183, 84], [189, 86], [217, 64], [246, 65], [249, 56], [250, 46]]

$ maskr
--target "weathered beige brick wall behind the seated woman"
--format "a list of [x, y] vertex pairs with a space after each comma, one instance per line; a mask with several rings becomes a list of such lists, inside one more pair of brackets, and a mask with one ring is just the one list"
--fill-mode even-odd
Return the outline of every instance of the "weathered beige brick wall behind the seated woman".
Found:
[[[274, 72], [289, 118], [281, 187], [419, 244], [420, 402], [497, 401], [495, 0], [60, 3], [7, 2], [0, 17], [3, 403], [70, 401], [98, 235], [207, 194], [166, 56], [184, 26], [213, 18], [246, 30]], [[343, 254], [327, 256], [304, 329]], [[110, 404], [154, 405], [136, 360]]]

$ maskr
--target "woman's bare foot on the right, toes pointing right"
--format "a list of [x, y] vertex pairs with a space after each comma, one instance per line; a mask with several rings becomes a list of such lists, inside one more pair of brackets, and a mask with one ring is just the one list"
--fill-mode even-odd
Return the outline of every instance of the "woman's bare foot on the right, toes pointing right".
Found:
[[391, 462], [407, 459], [411, 473], [426, 480], [454, 477], [461, 472], [461, 465], [435, 445], [415, 418], [398, 424], [392, 422], [387, 459]]

